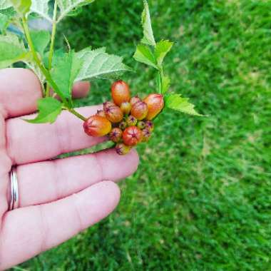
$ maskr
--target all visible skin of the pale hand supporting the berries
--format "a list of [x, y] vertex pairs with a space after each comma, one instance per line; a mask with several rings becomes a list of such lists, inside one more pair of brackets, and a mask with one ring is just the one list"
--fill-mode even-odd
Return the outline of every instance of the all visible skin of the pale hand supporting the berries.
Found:
[[[86, 84], [83, 84], [86, 91]], [[76, 86], [75, 91], [81, 91]], [[86, 91], [88, 92], [88, 91]], [[76, 93], [76, 95], [80, 95]], [[21, 119], [36, 111], [38, 79], [29, 70], [0, 71], [0, 270], [61, 244], [109, 215], [120, 199], [114, 183], [135, 172], [138, 154], [115, 150], [50, 160], [101, 143], [83, 132], [82, 121], [63, 112], [56, 123]], [[80, 108], [85, 116], [101, 106]], [[7, 211], [9, 171], [18, 165], [19, 208]]]

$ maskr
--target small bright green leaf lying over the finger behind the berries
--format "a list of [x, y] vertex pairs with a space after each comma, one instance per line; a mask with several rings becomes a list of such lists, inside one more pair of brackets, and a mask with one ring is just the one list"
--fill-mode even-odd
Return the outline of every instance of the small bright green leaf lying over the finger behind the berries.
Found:
[[25, 120], [29, 123], [54, 123], [61, 113], [62, 103], [55, 98], [41, 98], [38, 101], [39, 114], [34, 120]]

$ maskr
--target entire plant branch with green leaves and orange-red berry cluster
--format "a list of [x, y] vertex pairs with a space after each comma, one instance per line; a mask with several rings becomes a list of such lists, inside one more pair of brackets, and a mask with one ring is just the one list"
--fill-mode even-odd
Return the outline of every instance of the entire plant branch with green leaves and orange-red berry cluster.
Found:
[[[153, 120], [163, 108], [170, 108], [194, 116], [197, 113], [188, 98], [169, 93], [170, 78], [165, 75], [163, 61], [173, 47], [168, 40], [155, 41], [148, 3], [143, 0], [143, 39], [133, 58], [157, 71], [157, 91], [141, 100], [131, 97], [129, 86], [116, 81], [111, 87], [113, 101], [103, 103], [103, 110], [86, 118], [73, 108], [73, 83], [93, 78], [120, 78], [131, 71], [120, 56], [109, 55], [106, 48], [74, 51], [68, 44], [55, 50], [56, 26], [65, 16], [73, 15], [81, 6], [94, 0], [0, 0], [0, 68], [23, 61], [41, 81], [44, 97], [38, 101], [39, 113], [29, 123], [53, 123], [66, 110], [83, 121], [88, 136], [108, 136], [116, 144], [116, 152], [126, 154], [140, 142], [147, 142], [153, 133]], [[50, 7], [50, 5], [53, 6]], [[51, 14], [53, 10], [53, 14]], [[29, 18], [41, 17], [51, 23], [50, 31], [29, 29]], [[32, 16], [33, 17], [33, 16]], [[9, 25], [16, 28], [10, 31]]]

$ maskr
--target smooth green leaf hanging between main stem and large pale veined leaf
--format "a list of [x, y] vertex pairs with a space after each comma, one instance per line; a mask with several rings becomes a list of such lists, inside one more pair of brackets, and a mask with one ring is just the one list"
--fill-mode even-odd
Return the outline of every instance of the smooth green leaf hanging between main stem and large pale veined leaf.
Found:
[[65, 98], [71, 101], [71, 88], [83, 65], [83, 59], [70, 51], [58, 58], [51, 76]]

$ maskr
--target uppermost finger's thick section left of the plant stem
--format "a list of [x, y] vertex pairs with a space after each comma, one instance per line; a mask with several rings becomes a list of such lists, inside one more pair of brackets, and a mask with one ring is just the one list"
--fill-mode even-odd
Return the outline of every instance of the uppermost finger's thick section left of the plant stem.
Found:
[[23, 116], [36, 111], [41, 98], [41, 83], [26, 68], [0, 70], [0, 113], [4, 118]]

